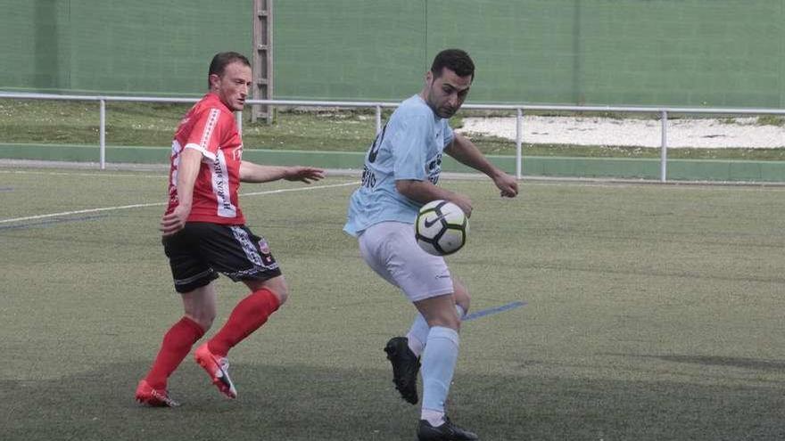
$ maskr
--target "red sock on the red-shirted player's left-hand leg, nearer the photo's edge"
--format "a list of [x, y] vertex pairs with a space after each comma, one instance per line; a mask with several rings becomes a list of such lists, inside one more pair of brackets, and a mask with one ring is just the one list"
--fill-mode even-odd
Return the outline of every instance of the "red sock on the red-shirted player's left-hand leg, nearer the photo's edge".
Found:
[[166, 388], [169, 375], [175, 372], [180, 363], [186, 358], [196, 340], [201, 339], [204, 330], [199, 323], [188, 317], [183, 317], [175, 323], [163, 336], [161, 350], [155, 357], [153, 367], [147, 373], [147, 383], [155, 389]]

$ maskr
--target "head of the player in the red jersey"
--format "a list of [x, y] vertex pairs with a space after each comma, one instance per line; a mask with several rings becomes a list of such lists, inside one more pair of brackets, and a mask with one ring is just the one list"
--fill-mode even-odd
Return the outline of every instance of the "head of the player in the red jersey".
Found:
[[251, 62], [240, 53], [216, 53], [210, 63], [207, 84], [229, 110], [243, 110], [252, 84]]

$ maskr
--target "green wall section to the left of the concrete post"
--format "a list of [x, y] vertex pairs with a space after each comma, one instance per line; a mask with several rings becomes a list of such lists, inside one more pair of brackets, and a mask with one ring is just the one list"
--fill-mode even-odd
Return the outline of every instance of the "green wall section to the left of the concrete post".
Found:
[[198, 95], [213, 54], [250, 55], [247, 0], [0, 0], [0, 89]]

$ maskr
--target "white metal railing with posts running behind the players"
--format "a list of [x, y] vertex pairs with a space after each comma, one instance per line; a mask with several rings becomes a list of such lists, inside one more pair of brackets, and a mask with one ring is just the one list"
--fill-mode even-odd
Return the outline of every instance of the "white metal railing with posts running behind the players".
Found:
[[[20, 100], [61, 100], [61, 101], [97, 101], [100, 102], [99, 156], [100, 167], [106, 167], [106, 102], [197, 102], [199, 98], [167, 98], [156, 96], [109, 96], [109, 95], [69, 95], [69, 94], [28, 94], [0, 91], [0, 98]], [[398, 107], [399, 102], [351, 102], [351, 101], [304, 101], [304, 100], [246, 100], [246, 104], [263, 104], [302, 107], [340, 107], [340, 108], [372, 108], [376, 110], [376, 133], [382, 129], [382, 108]], [[475, 110], [515, 110], [516, 111], [516, 178], [522, 177], [522, 145], [523, 118], [525, 110], [549, 111], [607, 111], [618, 113], [659, 113], [661, 121], [662, 142], [660, 145], [660, 178], [667, 181], [668, 160], [668, 113], [685, 114], [723, 114], [723, 115], [785, 115], [783, 109], [752, 109], [752, 108], [690, 108], [690, 107], [629, 107], [629, 106], [567, 106], [567, 105], [534, 105], [534, 104], [464, 104], [462, 109]], [[242, 112], [236, 112], [237, 125], [243, 130]]]

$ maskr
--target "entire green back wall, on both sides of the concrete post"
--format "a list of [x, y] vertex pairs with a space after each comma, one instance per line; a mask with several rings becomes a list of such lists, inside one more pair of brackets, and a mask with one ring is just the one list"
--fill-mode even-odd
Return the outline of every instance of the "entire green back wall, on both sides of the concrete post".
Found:
[[[196, 95], [252, 0], [0, 0], [0, 89]], [[274, 0], [275, 95], [400, 101], [462, 47], [470, 102], [785, 108], [785, 0]]]

